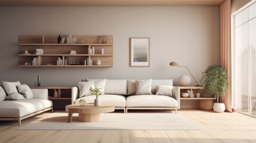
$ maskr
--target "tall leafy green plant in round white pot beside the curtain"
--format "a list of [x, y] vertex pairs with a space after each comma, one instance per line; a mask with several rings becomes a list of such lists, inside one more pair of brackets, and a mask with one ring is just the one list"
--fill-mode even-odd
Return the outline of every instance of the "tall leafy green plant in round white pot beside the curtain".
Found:
[[202, 74], [203, 88], [217, 98], [217, 103], [214, 103], [213, 107], [214, 111], [219, 113], [225, 111], [225, 105], [221, 103], [221, 98], [227, 94], [229, 89], [229, 77], [227, 77], [226, 71], [220, 65], [214, 64], [208, 66]]

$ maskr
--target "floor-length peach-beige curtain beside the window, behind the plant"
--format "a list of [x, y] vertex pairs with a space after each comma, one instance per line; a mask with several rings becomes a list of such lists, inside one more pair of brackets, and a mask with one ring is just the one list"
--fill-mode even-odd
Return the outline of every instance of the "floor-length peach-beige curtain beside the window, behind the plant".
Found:
[[232, 74], [231, 74], [231, 0], [225, 0], [220, 5], [220, 53], [221, 66], [229, 76], [229, 91], [223, 99], [226, 111], [232, 112]]

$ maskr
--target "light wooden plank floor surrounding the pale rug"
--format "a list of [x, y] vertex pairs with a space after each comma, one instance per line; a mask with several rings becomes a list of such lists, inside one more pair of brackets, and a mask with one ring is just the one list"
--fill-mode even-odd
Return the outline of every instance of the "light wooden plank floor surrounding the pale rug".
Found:
[[[31, 117], [21, 124], [48, 114], [51, 113]], [[0, 122], [0, 142], [256, 142], [253, 117], [201, 110], [178, 110], [178, 114], [201, 130], [16, 130], [16, 122]]]

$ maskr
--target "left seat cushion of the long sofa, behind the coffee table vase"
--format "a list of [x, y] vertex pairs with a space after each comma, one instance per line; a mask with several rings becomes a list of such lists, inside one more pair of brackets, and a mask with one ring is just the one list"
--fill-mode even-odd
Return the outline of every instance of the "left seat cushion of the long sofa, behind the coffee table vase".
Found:
[[[94, 103], [96, 96], [90, 95], [82, 98], [78, 98], [75, 104], [79, 104], [79, 100], [84, 99], [85, 103]], [[125, 97], [122, 95], [105, 94], [100, 95], [101, 103], [115, 105], [115, 107], [125, 107]]]

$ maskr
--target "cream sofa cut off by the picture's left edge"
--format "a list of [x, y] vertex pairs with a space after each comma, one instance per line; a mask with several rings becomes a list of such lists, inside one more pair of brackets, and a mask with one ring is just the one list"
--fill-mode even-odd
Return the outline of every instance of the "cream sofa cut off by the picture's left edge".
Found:
[[31, 89], [33, 98], [24, 100], [0, 101], [0, 120], [21, 120], [44, 111], [53, 111], [53, 102], [48, 100], [47, 89]]

